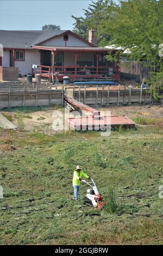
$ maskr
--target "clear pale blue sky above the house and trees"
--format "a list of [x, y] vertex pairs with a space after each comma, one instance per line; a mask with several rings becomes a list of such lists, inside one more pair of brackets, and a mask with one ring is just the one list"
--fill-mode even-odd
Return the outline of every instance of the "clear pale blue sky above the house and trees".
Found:
[[[96, 0], [94, 0], [96, 2]], [[73, 29], [74, 16], [83, 16], [91, 0], [0, 0], [0, 29], [41, 30], [45, 24]]]

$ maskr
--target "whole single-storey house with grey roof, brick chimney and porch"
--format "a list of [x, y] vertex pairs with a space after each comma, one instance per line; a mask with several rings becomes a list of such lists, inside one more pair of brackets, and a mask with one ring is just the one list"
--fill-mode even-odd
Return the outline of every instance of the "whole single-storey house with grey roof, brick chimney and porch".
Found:
[[[51, 78], [120, 78], [118, 63], [106, 61], [107, 48], [97, 47], [95, 30], [89, 41], [72, 31], [0, 31], [3, 57], [0, 65], [18, 67], [22, 76], [40, 74]], [[116, 51], [116, 50], [114, 50]], [[114, 52], [112, 51], [112, 52]]]

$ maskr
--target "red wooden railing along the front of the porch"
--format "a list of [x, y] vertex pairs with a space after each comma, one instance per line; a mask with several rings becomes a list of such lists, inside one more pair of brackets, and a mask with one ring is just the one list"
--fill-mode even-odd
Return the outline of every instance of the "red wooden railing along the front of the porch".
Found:
[[42, 77], [51, 78], [52, 69], [54, 72], [59, 72], [60, 75], [112, 75], [120, 74], [120, 67], [118, 66], [43, 66], [37, 65], [33, 68], [33, 74], [40, 74]]

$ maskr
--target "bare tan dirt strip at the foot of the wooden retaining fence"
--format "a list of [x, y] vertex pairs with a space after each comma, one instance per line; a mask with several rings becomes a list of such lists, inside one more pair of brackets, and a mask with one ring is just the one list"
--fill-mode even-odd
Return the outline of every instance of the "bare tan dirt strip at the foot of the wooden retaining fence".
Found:
[[[137, 116], [146, 118], [162, 118], [163, 106], [162, 105], [131, 105], [131, 106], [111, 106], [108, 108], [98, 108], [99, 111], [111, 111], [111, 115], [126, 115], [128, 118]], [[11, 115], [12, 122], [17, 125], [17, 113], [15, 112], [2, 112], [5, 115]], [[49, 135], [54, 133], [52, 124], [64, 114], [64, 108], [50, 108], [45, 111], [35, 111], [32, 113], [24, 113], [22, 119], [24, 122], [25, 131], [43, 131]], [[73, 117], [73, 115], [70, 115]]]

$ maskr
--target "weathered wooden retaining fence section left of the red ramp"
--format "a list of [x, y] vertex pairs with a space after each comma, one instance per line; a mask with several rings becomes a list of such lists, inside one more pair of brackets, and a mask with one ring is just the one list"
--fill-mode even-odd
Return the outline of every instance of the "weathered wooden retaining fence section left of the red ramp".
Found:
[[62, 105], [64, 89], [43, 84], [0, 83], [0, 109], [21, 106]]

